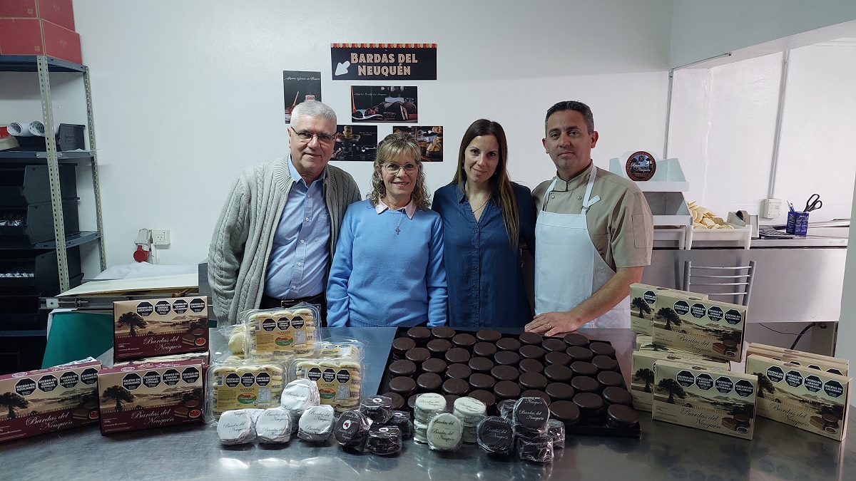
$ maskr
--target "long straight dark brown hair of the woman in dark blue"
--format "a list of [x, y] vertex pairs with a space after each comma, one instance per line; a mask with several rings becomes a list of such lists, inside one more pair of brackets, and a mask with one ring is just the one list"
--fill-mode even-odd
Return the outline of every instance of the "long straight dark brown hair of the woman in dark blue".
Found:
[[461, 139], [461, 150], [458, 151], [458, 168], [455, 169], [453, 182], [458, 184], [462, 191], [466, 192], [464, 184], [467, 181], [467, 172], [464, 170], [464, 158], [467, 155], [467, 146], [476, 137], [482, 135], [493, 135], [499, 145], [499, 162], [496, 163], [496, 171], [490, 176], [490, 197], [494, 199], [502, 211], [502, 222], [505, 223], [505, 231], [508, 233], [508, 242], [513, 249], [519, 246], [520, 220], [517, 217], [517, 200], [514, 199], [514, 189], [508, 179], [508, 141], [505, 139], [505, 130], [502, 125], [487, 119], [479, 119], [470, 124], [464, 138]]

